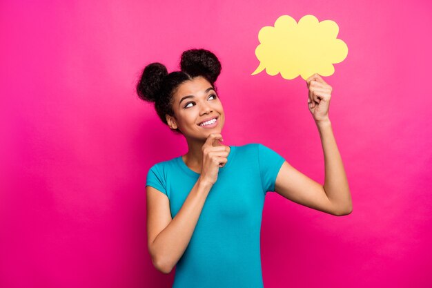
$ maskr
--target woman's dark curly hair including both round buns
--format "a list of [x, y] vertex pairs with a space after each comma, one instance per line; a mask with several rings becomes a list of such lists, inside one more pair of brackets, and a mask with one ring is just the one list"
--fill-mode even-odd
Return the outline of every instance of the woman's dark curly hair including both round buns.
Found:
[[[222, 66], [213, 52], [206, 49], [190, 49], [181, 54], [180, 71], [168, 70], [159, 62], [150, 63], [144, 68], [137, 84], [139, 98], [146, 102], [154, 102], [157, 115], [164, 124], [168, 125], [166, 115], [175, 117], [173, 100], [177, 88], [185, 81], [194, 77], [204, 77], [215, 88], [215, 81]], [[173, 130], [181, 133], [179, 128]]]

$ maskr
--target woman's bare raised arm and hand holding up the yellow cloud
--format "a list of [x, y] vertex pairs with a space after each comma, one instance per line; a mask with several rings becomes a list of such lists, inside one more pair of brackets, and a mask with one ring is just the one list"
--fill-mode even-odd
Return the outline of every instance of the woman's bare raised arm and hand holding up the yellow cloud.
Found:
[[324, 185], [284, 162], [277, 174], [275, 191], [284, 198], [306, 207], [333, 215], [348, 215], [353, 211], [351, 193], [328, 118], [332, 88], [317, 74], [306, 79], [306, 83], [309, 88], [309, 111], [317, 124], [324, 151]]

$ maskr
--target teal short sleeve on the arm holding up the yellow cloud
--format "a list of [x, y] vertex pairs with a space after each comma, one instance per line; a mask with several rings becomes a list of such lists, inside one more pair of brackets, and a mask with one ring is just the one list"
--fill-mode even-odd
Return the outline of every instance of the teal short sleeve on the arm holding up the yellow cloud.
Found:
[[275, 191], [277, 173], [285, 162], [284, 157], [271, 148], [258, 144], [258, 162], [264, 194], [267, 191]]

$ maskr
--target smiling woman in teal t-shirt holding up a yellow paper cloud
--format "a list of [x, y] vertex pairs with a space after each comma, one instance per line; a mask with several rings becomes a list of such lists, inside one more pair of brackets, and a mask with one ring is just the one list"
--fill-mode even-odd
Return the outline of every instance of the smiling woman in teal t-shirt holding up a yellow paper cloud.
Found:
[[225, 145], [224, 108], [215, 81], [221, 64], [204, 49], [183, 52], [181, 71], [144, 68], [141, 99], [188, 143], [188, 153], [159, 162], [146, 182], [148, 250], [173, 287], [263, 287], [259, 233], [267, 191], [333, 215], [351, 213], [351, 194], [328, 119], [331, 87], [306, 80], [308, 107], [325, 160], [322, 186], [262, 144]]

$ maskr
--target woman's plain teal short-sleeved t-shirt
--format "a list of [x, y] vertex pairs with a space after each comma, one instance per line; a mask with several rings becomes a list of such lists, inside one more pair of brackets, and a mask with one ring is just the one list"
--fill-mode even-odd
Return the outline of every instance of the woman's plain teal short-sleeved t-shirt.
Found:
[[[228, 162], [219, 168], [193, 236], [175, 266], [173, 288], [263, 287], [262, 209], [285, 160], [263, 144], [228, 146]], [[168, 197], [174, 218], [198, 177], [179, 156], [153, 165], [146, 186]]]

